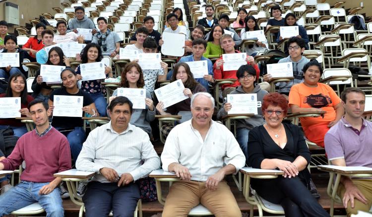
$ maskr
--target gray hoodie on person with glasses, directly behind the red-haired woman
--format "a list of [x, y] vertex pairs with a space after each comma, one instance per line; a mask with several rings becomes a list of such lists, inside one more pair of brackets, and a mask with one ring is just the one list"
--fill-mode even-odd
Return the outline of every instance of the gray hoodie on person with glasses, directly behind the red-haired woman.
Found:
[[[247, 94], [247, 93], [244, 92], [242, 86], [239, 86], [239, 87], [236, 87], [235, 90], [231, 92], [230, 94]], [[268, 94], [268, 92], [265, 90], [262, 90], [258, 84], [254, 84], [254, 89], [251, 94], [257, 94], [257, 103], [258, 102], [262, 103], [263, 97], [266, 94]], [[222, 104], [221, 109], [218, 111], [217, 120], [221, 120], [223, 116], [227, 115], [227, 112], [224, 109], [226, 102], [227, 100], [225, 100], [225, 102]], [[265, 122], [262, 116], [261, 108], [257, 108], [257, 113], [258, 114], [250, 116], [250, 118], [248, 119], [236, 119], [237, 129], [247, 128], [248, 130], [251, 130], [256, 126], [261, 126]]]

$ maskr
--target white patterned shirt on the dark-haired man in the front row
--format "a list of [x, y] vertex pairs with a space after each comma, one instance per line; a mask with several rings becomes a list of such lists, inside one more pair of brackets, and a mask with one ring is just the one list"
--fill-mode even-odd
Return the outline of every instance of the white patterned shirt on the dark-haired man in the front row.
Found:
[[[145, 163], [141, 165], [141, 160]], [[134, 181], [147, 176], [160, 167], [160, 159], [145, 131], [128, 124], [118, 134], [111, 121], [91, 131], [76, 160], [76, 168], [96, 172], [93, 181], [109, 182], [99, 170], [103, 167], [114, 169], [119, 176], [130, 173]]]

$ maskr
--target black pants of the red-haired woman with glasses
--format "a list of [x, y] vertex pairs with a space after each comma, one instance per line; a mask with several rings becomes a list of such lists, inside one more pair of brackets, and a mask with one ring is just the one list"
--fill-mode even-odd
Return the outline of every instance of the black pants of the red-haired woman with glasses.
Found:
[[251, 182], [260, 197], [282, 205], [286, 217], [329, 217], [298, 176], [252, 179]]

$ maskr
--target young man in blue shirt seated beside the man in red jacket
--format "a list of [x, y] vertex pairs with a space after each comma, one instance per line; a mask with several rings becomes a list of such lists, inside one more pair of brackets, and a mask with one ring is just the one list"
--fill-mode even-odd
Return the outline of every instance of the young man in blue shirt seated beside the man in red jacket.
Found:
[[203, 56], [206, 48], [207, 48], [207, 42], [204, 39], [193, 40], [192, 41], [192, 55], [182, 57], [179, 62], [192, 62], [192, 61], [207, 60], [208, 74], [204, 75], [203, 78], [195, 78], [195, 80], [201, 85], [203, 85], [209, 93], [208, 81], [210, 84], [213, 84], [214, 78], [213, 78], [212, 61]]

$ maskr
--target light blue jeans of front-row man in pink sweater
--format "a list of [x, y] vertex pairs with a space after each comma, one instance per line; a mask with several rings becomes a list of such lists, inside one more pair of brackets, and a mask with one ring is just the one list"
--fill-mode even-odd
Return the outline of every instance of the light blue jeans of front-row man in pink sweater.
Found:
[[39, 190], [50, 182], [21, 181], [14, 188], [9, 189], [0, 196], [0, 216], [26, 207], [35, 202], [47, 212], [47, 217], [63, 217], [61, 189], [55, 188], [50, 194], [39, 195]]

